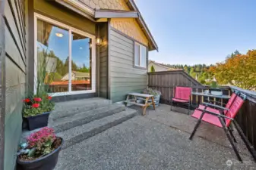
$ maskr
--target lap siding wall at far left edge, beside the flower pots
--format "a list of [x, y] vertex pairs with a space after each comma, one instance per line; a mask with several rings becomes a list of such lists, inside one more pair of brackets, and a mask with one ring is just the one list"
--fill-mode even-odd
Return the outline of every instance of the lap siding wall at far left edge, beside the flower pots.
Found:
[[26, 89], [24, 1], [5, 1], [5, 169], [14, 169]]

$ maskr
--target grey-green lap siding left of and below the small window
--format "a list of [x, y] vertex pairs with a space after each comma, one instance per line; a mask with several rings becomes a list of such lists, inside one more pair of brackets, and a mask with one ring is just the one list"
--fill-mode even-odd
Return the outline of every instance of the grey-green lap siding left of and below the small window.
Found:
[[134, 42], [110, 30], [110, 91], [113, 102], [147, 88], [147, 70], [134, 68]]

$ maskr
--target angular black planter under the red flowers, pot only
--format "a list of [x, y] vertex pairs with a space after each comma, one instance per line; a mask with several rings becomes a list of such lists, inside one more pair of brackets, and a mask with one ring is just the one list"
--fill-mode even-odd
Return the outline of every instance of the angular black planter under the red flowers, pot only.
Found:
[[46, 127], [48, 125], [48, 119], [49, 119], [50, 113], [51, 112], [46, 112], [40, 115], [24, 118], [27, 121], [28, 129], [32, 131], [33, 129], [36, 129], [36, 128]]

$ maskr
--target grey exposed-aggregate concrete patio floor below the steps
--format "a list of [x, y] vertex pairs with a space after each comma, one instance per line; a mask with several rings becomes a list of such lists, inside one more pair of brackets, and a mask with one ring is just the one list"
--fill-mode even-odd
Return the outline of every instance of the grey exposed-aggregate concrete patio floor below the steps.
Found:
[[196, 119], [184, 114], [186, 110], [178, 113], [169, 108], [161, 104], [156, 110], [148, 109], [146, 116], [135, 116], [62, 150], [55, 169], [256, 169], [238, 134], [243, 163], [222, 129], [202, 123], [190, 141]]

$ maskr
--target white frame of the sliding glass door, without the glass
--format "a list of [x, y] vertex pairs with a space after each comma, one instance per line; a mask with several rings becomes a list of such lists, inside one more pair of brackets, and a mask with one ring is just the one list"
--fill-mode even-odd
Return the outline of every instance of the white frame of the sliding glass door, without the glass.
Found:
[[34, 13], [34, 94], [36, 94], [36, 79], [37, 79], [37, 19], [46, 21], [47, 23], [52, 23], [55, 26], [61, 26], [64, 29], [68, 29], [69, 32], [69, 64], [71, 66], [71, 32], [76, 32], [78, 34], [81, 34], [82, 36], [87, 36], [88, 38], [92, 39], [92, 77], [91, 77], [91, 90], [86, 91], [71, 91], [71, 67], [69, 67], [69, 82], [68, 82], [68, 91], [65, 92], [57, 92], [57, 93], [49, 93], [51, 96], [65, 96], [65, 95], [72, 95], [72, 94], [88, 94], [88, 93], [95, 93], [96, 92], [96, 44], [95, 44], [95, 36], [88, 34], [87, 32], [83, 32], [79, 29], [76, 29], [72, 26], [68, 26], [64, 23], [60, 23], [57, 20], [52, 20], [49, 17], [45, 17], [41, 14]]

